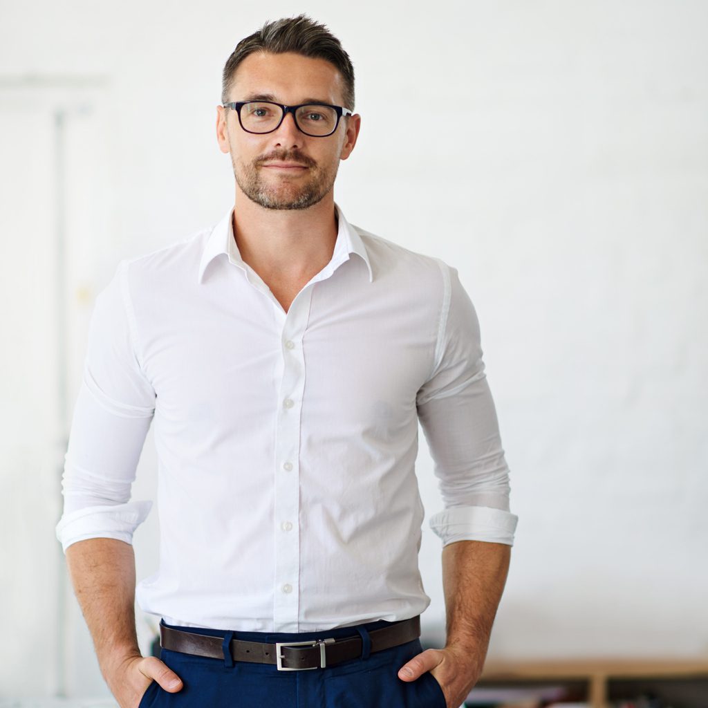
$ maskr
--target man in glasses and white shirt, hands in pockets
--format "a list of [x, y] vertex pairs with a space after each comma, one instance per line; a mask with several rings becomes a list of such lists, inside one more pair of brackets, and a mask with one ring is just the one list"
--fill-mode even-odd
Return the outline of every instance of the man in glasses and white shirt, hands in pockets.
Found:
[[[456, 707], [481, 673], [516, 518], [479, 329], [455, 270], [336, 207], [353, 108], [324, 26], [239, 42], [217, 107], [234, 208], [96, 302], [57, 535], [122, 708]], [[149, 503], [129, 501], [153, 417], [160, 569], [137, 600], [160, 659], [135, 636]], [[418, 420], [445, 501], [447, 641], [427, 651]]]

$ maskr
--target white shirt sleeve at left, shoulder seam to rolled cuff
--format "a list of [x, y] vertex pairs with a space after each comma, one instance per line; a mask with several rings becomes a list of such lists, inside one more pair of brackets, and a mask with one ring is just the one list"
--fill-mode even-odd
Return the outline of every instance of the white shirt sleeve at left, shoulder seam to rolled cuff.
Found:
[[62, 476], [64, 512], [56, 527], [64, 551], [89, 538], [132, 543], [152, 506], [130, 501], [156, 395], [137, 346], [127, 267], [122, 262], [98, 295], [89, 326]]

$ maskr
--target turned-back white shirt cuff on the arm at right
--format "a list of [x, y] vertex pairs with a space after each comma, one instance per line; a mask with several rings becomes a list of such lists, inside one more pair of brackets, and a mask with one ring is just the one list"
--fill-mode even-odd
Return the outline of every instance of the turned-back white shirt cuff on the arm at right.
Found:
[[456, 541], [486, 541], [514, 544], [518, 516], [489, 506], [458, 506], [445, 509], [430, 519], [430, 528], [446, 546]]

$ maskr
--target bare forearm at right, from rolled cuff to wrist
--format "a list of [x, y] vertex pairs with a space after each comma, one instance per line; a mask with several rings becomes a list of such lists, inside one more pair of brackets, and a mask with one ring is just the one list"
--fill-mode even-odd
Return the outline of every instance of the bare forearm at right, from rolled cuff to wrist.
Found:
[[481, 672], [509, 569], [510, 546], [459, 541], [442, 549], [448, 647], [463, 649]]

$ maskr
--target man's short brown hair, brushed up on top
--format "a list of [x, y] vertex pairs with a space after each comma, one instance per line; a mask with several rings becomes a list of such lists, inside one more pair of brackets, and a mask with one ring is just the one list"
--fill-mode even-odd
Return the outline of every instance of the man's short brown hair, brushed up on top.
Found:
[[229, 101], [234, 74], [241, 62], [253, 52], [295, 54], [312, 59], [324, 59], [332, 64], [344, 79], [344, 106], [354, 110], [354, 67], [341, 42], [324, 26], [307, 15], [266, 22], [252, 35], [242, 39], [224, 66], [222, 103]]

